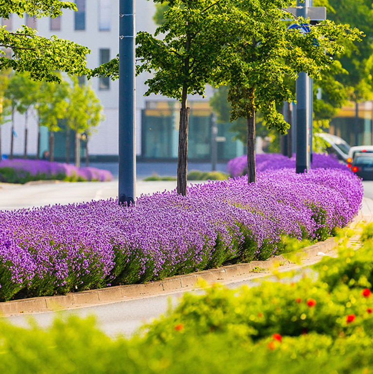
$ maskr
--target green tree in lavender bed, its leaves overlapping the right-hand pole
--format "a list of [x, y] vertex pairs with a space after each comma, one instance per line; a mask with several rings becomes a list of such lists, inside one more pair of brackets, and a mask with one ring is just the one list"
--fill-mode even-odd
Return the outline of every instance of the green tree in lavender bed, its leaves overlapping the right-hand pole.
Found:
[[[294, 95], [288, 81], [305, 71], [312, 78], [321, 78], [333, 64], [329, 55], [341, 53], [340, 38], [355, 40], [360, 34], [347, 25], [327, 20], [311, 27], [308, 33], [287, 30], [285, 18], [292, 18], [284, 0], [245, 0], [239, 2], [239, 22], [245, 22], [240, 38], [227, 48], [225, 64], [218, 72], [218, 81], [229, 84], [228, 100], [231, 118], [247, 120], [248, 181], [255, 182], [255, 110], [260, 110], [268, 128], [286, 133], [289, 125], [276, 105], [291, 102]], [[295, 24], [309, 23], [294, 17]]]

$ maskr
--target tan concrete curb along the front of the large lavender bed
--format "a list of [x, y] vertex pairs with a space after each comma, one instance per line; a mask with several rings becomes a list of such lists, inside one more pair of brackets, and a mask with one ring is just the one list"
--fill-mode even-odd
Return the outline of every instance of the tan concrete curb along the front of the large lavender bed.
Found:
[[[361, 211], [349, 225], [354, 229], [363, 220]], [[323, 242], [304, 248], [300, 252], [302, 260], [317, 256], [319, 252], [328, 252], [338, 247], [334, 237]], [[322, 256], [320, 256], [320, 259]], [[253, 274], [255, 268], [270, 270], [282, 264], [289, 263], [283, 255], [274, 256], [265, 261], [252, 261], [245, 264], [228, 265], [211, 270], [198, 271], [186, 275], [177, 275], [165, 278], [162, 281], [155, 281], [140, 285], [119, 285], [108, 288], [94, 289], [67, 295], [37, 297], [23, 300], [14, 300], [0, 303], [0, 315], [10, 316], [19, 313], [36, 313], [53, 310], [63, 310], [72, 307], [97, 305], [101, 303], [114, 303], [143, 296], [154, 296], [166, 294], [178, 290], [191, 290], [197, 288], [201, 280], [214, 283], [219, 281], [232, 280], [235, 277]]]

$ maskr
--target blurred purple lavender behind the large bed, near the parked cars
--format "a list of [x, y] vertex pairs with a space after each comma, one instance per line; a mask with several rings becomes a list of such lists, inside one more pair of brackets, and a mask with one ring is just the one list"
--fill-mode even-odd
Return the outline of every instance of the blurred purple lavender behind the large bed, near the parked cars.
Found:
[[[277, 153], [262, 153], [255, 157], [256, 171], [265, 171], [282, 168], [295, 169], [295, 155], [290, 159], [286, 156]], [[313, 154], [311, 163], [312, 169], [317, 168], [334, 168], [348, 170], [348, 168], [341, 164], [335, 157], [328, 155]], [[238, 177], [247, 174], [247, 156], [239, 156], [228, 162], [228, 173], [232, 177]]]

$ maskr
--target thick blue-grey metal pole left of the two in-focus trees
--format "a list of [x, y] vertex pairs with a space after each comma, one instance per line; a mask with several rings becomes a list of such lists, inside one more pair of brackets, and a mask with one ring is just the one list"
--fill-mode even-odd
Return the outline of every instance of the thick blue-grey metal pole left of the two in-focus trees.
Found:
[[135, 0], [119, 0], [119, 204], [136, 198]]

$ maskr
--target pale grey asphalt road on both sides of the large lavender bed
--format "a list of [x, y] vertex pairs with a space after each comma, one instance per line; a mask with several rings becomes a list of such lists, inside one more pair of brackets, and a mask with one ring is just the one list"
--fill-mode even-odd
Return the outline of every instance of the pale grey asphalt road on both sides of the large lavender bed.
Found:
[[[150, 183], [143, 185], [142, 183]], [[174, 188], [174, 182], [142, 182], [138, 185], [139, 191], [151, 193], [151, 190], [161, 190]], [[365, 196], [373, 198], [373, 181], [364, 182]], [[114, 194], [114, 195], [113, 195]], [[0, 190], [0, 208], [6, 206], [20, 207], [22, 204], [29, 206], [31, 201], [36, 205], [49, 204], [51, 198], [54, 202], [74, 202], [87, 201], [92, 198], [106, 198], [116, 196], [116, 182], [109, 183], [57, 183], [53, 185], [32, 185], [32, 186], [13, 186], [12, 188], [3, 187]], [[72, 201], [74, 200], [74, 201]], [[294, 266], [293, 268], [296, 268]], [[284, 268], [283, 270], [288, 270]], [[308, 270], [300, 270], [308, 271]], [[268, 274], [267, 274], [268, 275]], [[301, 277], [298, 273], [294, 281]], [[252, 277], [251, 277], [252, 278]], [[227, 286], [236, 288], [240, 285], [253, 285], [255, 281], [243, 277], [235, 282], [227, 282]], [[194, 291], [201, 292], [201, 291]], [[117, 335], [131, 336], [144, 322], [152, 321], [154, 318], [164, 314], [169, 302], [176, 304], [181, 292], [175, 292], [169, 295], [160, 295], [145, 297], [139, 299], [130, 299], [118, 303], [82, 307], [59, 312], [60, 318], [67, 318], [69, 315], [79, 315], [85, 317], [94, 315], [97, 318], [98, 325], [107, 335], [115, 337]], [[19, 315], [8, 317], [7, 319], [19, 326], [28, 326], [29, 319], [33, 318], [41, 327], [47, 327], [56, 317], [55, 312], [34, 313], [33, 315]]]

